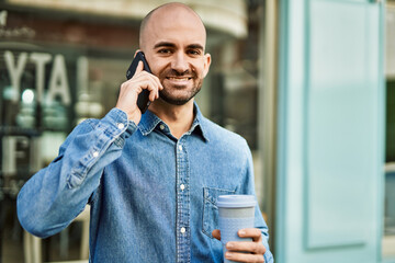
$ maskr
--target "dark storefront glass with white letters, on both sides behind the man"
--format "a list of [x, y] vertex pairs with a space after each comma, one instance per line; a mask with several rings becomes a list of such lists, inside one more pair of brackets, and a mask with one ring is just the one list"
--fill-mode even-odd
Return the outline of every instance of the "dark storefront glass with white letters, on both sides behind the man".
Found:
[[[26, 256], [24, 232], [15, 216], [19, 190], [57, 156], [58, 147], [79, 122], [100, 118], [115, 105], [119, 88], [138, 47], [138, 26], [145, 12], [120, 14], [122, 7], [115, 13], [113, 5], [105, 11], [103, 1], [76, 2], [74, 8], [67, 2], [0, 1], [3, 262], [24, 262]], [[86, 7], [88, 2], [91, 8]], [[140, 10], [157, 4], [137, 2]], [[235, 24], [233, 33], [219, 22], [218, 27], [207, 26], [207, 52], [213, 65], [196, 101], [203, 114], [244, 136], [256, 153], [262, 3], [251, 0], [234, 4], [238, 5], [235, 13], [245, 18], [244, 27]], [[215, 21], [210, 15], [205, 19]], [[42, 259], [78, 259], [81, 228], [75, 224], [66, 232], [43, 240]]]

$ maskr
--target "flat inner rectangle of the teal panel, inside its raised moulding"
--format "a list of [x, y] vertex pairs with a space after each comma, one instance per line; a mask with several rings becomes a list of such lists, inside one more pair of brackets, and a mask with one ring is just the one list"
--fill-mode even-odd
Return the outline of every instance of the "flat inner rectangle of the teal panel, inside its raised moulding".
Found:
[[[312, 1], [306, 92], [307, 247], [369, 239], [376, 176], [377, 27], [365, 4]], [[373, 46], [372, 46], [373, 44]], [[371, 59], [372, 55], [375, 59]], [[371, 70], [373, 67], [373, 70]], [[363, 199], [363, 205], [361, 201]]]

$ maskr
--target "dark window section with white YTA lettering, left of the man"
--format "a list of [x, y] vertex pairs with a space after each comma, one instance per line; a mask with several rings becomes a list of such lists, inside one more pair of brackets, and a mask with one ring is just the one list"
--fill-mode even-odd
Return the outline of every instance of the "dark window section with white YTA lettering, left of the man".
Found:
[[37, 239], [20, 227], [15, 198], [24, 182], [57, 156], [76, 124], [102, 117], [115, 105], [137, 36], [137, 19], [0, 5], [2, 261], [80, 258], [83, 222], [40, 241], [43, 253], [21, 253], [26, 240]]

